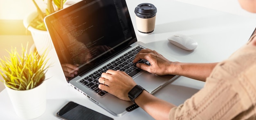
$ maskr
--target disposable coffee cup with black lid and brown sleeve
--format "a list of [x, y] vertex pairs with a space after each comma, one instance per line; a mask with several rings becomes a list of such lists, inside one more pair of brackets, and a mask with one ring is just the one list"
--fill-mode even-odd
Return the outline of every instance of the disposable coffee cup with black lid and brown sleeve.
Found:
[[135, 8], [137, 30], [152, 33], [155, 29], [157, 8], [150, 3], [141, 3]]

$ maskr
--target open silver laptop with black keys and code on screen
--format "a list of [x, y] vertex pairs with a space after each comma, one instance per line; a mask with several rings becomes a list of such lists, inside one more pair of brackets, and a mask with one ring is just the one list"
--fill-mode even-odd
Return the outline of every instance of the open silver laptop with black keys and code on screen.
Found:
[[[177, 78], [157, 76], [132, 63], [141, 49], [150, 46], [137, 41], [126, 0], [82, 0], [45, 17], [45, 24], [60, 64], [79, 68], [75, 76], [66, 76], [67, 83], [115, 116], [138, 106], [99, 89], [102, 72], [125, 71], [150, 94]], [[144, 59], [139, 62], [150, 65]]]

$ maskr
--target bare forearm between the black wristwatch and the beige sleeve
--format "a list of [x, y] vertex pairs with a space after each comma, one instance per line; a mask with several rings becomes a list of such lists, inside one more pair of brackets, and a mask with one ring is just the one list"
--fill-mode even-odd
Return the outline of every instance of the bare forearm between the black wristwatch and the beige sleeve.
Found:
[[135, 103], [156, 120], [167, 120], [171, 108], [175, 105], [161, 100], [145, 90], [135, 99]]

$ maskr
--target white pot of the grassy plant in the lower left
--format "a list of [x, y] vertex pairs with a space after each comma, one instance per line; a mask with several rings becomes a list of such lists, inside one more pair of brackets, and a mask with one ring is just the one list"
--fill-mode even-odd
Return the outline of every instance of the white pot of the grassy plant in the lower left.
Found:
[[5, 85], [16, 114], [25, 119], [41, 116], [46, 109], [46, 83], [29, 90], [14, 90]]

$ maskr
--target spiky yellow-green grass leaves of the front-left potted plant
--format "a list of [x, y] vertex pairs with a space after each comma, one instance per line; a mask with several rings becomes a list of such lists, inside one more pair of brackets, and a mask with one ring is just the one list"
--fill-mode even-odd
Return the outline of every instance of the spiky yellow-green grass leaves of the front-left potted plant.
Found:
[[[27, 44], [28, 46], [28, 44]], [[9, 57], [0, 59], [0, 74], [7, 87], [16, 90], [26, 90], [37, 87], [45, 80], [45, 72], [51, 65], [47, 65], [46, 50], [43, 55], [28, 52], [28, 47], [22, 46], [21, 55], [16, 48], [11, 48]]]

